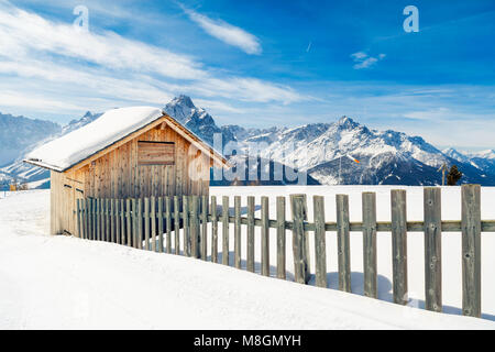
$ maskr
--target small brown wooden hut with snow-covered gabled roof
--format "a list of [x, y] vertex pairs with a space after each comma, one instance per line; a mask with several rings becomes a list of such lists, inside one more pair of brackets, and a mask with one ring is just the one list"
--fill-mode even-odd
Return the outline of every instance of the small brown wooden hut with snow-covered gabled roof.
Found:
[[208, 195], [210, 167], [228, 162], [161, 109], [110, 110], [31, 152], [51, 169], [51, 232], [76, 233], [77, 199]]

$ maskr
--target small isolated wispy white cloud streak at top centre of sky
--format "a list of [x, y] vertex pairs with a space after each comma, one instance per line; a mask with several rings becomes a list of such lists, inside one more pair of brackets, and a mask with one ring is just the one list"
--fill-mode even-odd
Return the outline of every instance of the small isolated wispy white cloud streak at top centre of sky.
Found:
[[224, 21], [212, 20], [194, 10], [185, 7], [182, 8], [193, 22], [197, 23], [205, 32], [219, 41], [237, 46], [246, 54], [260, 55], [262, 53], [260, 40], [253, 34]]

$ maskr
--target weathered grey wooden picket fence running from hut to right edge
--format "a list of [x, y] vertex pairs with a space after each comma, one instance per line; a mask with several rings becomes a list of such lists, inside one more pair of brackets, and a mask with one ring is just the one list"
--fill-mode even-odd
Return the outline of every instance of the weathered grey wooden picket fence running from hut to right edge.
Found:
[[[376, 220], [376, 195], [363, 193], [363, 221], [350, 222], [349, 196], [337, 195], [337, 222], [326, 222], [324, 199], [314, 196], [314, 221], [308, 221], [306, 195], [290, 195], [292, 221], [286, 220], [286, 198], [277, 197], [276, 219], [268, 217], [268, 197], [261, 198], [261, 218], [255, 218], [254, 196], [248, 197], [246, 216], [241, 216], [241, 197], [234, 197], [234, 215], [229, 215], [229, 197], [184, 196], [144, 199], [79, 199], [77, 201], [78, 237], [109, 241], [136, 249], [183, 254], [219, 262], [219, 222], [222, 237], [222, 264], [229, 265], [229, 227], [234, 228], [234, 266], [241, 268], [241, 230], [246, 227], [246, 270], [254, 272], [255, 227], [261, 228], [261, 273], [270, 276], [270, 229], [276, 229], [276, 276], [286, 278], [286, 231], [293, 232], [294, 275], [307, 284], [309, 268], [309, 233], [315, 235], [316, 285], [327, 287], [326, 233], [338, 237], [339, 289], [351, 292], [350, 232], [363, 233], [364, 294], [377, 298], [376, 234], [392, 232], [393, 297], [406, 305], [407, 232], [425, 233], [426, 308], [442, 310], [441, 234], [462, 232], [462, 312], [481, 317], [481, 232], [495, 232], [495, 220], [481, 220], [479, 185], [462, 186], [462, 219], [441, 220], [441, 189], [425, 187], [424, 221], [407, 221], [406, 190], [391, 191], [392, 221]], [[208, 227], [208, 223], [211, 223]], [[183, 231], [180, 231], [180, 229]], [[211, 235], [208, 232], [211, 232]], [[183, 234], [180, 237], [180, 233]], [[172, 242], [174, 240], [174, 246]], [[183, 245], [180, 245], [183, 244]]]

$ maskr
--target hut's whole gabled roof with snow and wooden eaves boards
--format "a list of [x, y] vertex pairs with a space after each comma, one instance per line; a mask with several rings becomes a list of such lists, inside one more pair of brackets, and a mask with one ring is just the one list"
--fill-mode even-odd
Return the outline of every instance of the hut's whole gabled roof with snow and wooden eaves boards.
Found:
[[77, 169], [161, 124], [166, 124], [201, 153], [209, 155], [217, 167], [231, 167], [219, 152], [199, 136], [163, 110], [152, 107], [110, 110], [85, 127], [33, 150], [23, 162], [59, 173]]

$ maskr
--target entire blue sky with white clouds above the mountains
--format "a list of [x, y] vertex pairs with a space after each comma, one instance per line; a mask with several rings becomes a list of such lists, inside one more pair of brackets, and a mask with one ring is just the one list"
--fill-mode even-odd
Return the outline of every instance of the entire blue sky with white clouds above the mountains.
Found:
[[[88, 9], [88, 32], [73, 13]], [[419, 11], [406, 33], [403, 10]], [[0, 111], [61, 123], [189, 95], [218, 124], [341, 116], [495, 147], [495, 2], [0, 0]]]

